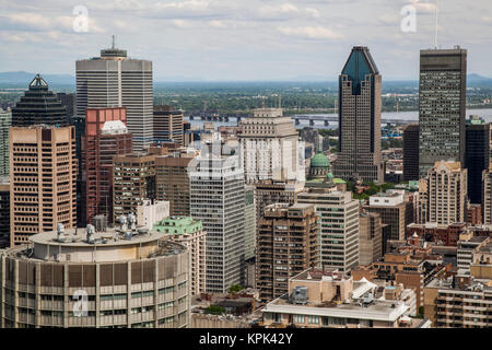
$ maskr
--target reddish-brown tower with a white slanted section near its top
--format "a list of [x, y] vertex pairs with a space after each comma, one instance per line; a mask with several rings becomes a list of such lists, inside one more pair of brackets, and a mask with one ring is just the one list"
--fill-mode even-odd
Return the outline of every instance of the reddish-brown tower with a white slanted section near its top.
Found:
[[105, 215], [113, 223], [113, 159], [132, 153], [126, 122], [125, 107], [85, 109], [85, 223], [92, 223], [95, 215]]

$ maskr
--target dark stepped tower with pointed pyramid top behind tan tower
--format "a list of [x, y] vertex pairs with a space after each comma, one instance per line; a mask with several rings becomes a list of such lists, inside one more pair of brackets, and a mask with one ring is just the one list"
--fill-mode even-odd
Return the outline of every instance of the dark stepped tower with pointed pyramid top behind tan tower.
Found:
[[67, 126], [67, 109], [57, 95], [48, 90], [46, 81], [37, 74], [30, 89], [12, 108], [12, 126], [28, 127], [36, 124]]

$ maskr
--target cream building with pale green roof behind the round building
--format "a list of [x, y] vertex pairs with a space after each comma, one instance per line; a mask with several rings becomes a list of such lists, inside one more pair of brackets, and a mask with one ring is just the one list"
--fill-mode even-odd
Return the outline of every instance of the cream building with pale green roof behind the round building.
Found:
[[153, 230], [165, 233], [189, 252], [189, 287], [191, 295], [206, 292], [207, 232], [200, 221], [191, 217], [171, 217], [156, 222]]

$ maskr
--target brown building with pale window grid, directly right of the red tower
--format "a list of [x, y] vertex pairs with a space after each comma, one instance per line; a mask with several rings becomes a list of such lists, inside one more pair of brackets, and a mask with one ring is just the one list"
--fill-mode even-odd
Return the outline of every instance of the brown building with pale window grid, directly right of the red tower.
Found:
[[137, 214], [145, 199], [155, 199], [155, 155], [113, 158], [113, 222], [120, 215]]

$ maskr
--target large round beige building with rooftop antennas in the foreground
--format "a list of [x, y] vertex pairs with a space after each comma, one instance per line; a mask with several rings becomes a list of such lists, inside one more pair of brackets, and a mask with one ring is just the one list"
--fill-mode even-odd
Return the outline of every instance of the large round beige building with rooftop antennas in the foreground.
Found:
[[131, 222], [47, 232], [0, 253], [0, 328], [183, 328], [188, 249]]

